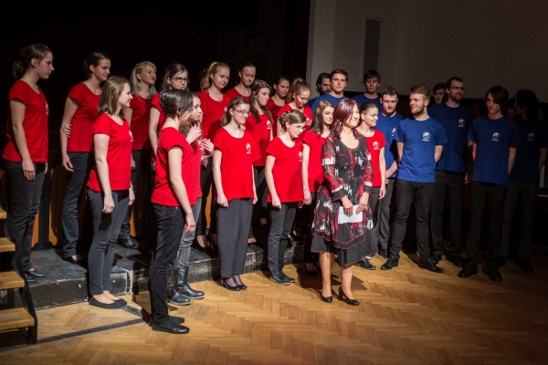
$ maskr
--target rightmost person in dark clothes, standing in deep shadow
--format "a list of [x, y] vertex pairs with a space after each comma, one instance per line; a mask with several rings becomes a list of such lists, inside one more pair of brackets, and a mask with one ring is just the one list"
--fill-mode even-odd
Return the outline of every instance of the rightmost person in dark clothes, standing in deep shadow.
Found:
[[516, 151], [516, 161], [511, 169], [508, 193], [504, 203], [501, 257], [505, 260], [508, 258], [511, 222], [516, 204], [520, 200], [523, 221], [522, 238], [518, 255], [514, 259], [525, 272], [532, 273], [534, 268], [529, 259], [532, 251], [532, 228], [539, 194], [540, 171], [546, 161], [548, 150], [548, 130], [544, 122], [538, 119], [539, 99], [532, 90], [519, 90], [516, 93], [515, 107], [522, 116], [522, 120], [518, 120], [522, 144]]

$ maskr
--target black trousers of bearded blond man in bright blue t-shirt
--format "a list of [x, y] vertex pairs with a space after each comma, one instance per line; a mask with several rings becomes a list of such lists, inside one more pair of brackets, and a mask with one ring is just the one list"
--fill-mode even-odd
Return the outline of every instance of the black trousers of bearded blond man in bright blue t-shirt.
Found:
[[390, 257], [399, 259], [406, 237], [406, 224], [411, 204], [415, 202], [416, 244], [421, 257], [430, 256], [428, 214], [432, 207], [434, 183], [412, 183], [398, 179], [395, 183], [395, 218], [392, 232]]

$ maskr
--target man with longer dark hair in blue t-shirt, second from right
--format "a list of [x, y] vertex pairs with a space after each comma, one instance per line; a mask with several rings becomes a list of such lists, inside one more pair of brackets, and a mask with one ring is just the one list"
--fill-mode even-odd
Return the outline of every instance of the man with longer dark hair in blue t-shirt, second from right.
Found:
[[502, 115], [508, 103], [508, 91], [501, 86], [490, 88], [485, 96], [488, 114], [472, 120], [468, 139], [472, 142], [472, 209], [470, 213], [469, 261], [459, 277], [478, 274], [481, 261], [481, 218], [488, 210], [490, 244], [487, 247], [486, 272], [495, 282], [502, 281], [501, 232], [504, 201], [508, 191], [508, 175], [516, 157], [516, 146], [520, 144], [518, 124]]

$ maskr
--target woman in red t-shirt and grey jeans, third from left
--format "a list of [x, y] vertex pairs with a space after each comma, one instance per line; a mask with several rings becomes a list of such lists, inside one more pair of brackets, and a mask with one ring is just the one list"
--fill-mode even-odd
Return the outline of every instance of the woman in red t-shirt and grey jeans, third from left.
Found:
[[109, 78], [100, 95], [99, 117], [93, 124], [95, 166], [88, 181], [88, 200], [93, 215], [90, 268], [90, 305], [115, 309], [125, 301], [109, 292], [114, 248], [128, 206], [135, 200], [132, 189], [132, 131], [121, 110], [130, 106], [132, 89], [127, 79]]

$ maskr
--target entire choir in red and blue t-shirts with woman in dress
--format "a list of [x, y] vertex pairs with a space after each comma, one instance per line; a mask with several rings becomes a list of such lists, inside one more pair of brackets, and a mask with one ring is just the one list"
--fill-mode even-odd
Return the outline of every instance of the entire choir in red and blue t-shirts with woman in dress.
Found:
[[[154, 330], [188, 332], [184, 318], [168, 315], [166, 302], [188, 305], [205, 296], [187, 282], [194, 240], [202, 250], [218, 250], [222, 286], [241, 291], [247, 289], [240, 278], [247, 245], [256, 242], [258, 230], [268, 229], [270, 280], [290, 285], [295, 278], [283, 272], [284, 255], [296, 224], [306, 227], [306, 272], [321, 273], [321, 300], [332, 302], [336, 255], [342, 270], [338, 297], [357, 306], [354, 266], [374, 270], [369, 260], [377, 253], [386, 258], [381, 269], [398, 266], [413, 203], [419, 267], [442, 273], [437, 264], [446, 255], [461, 267], [460, 277], [478, 273], [481, 219], [487, 209], [486, 272], [501, 281], [511, 220], [521, 201], [516, 262], [533, 271], [532, 221], [548, 133], [531, 90], [516, 94], [516, 121], [505, 116], [509, 95], [501, 86], [486, 92], [488, 114], [475, 118], [460, 104], [462, 79], [450, 78], [441, 96], [446, 101], [432, 106], [429, 89], [417, 85], [409, 90], [411, 115], [403, 119], [395, 111], [394, 88], [377, 94], [381, 77], [374, 70], [364, 75], [365, 93], [353, 99], [343, 94], [348, 82], [343, 69], [321, 74], [316, 84], [321, 95], [310, 99], [306, 81], [279, 77], [271, 88], [255, 78], [250, 63], [239, 68], [240, 81], [227, 93], [230, 68], [221, 62], [202, 71], [198, 93], [188, 89], [189, 72], [181, 64], [165, 68], [160, 92], [152, 62], [137, 64], [130, 80], [111, 76], [111, 59], [100, 53], [92, 53], [84, 69], [88, 78], [70, 89], [60, 130], [62, 164], [70, 172], [62, 224], [65, 259], [81, 264], [87, 254], [90, 305], [125, 304], [109, 292], [111, 267], [118, 242], [138, 246], [130, 219], [140, 181], [144, 215], [149, 209], [155, 214], [155, 219], [146, 217], [145, 229], [157, 233], [150, 266]], [[29, 281], [44, 276], [29, 261], [47, 172], [48, 108], [37, 81], [53, 70], [48, 47], [24, 47], [9, 92], [3, 158], [13, 190], [10, 218]], [[472, 191], [466, 261], [461, 258], [465, 183]], [[89, 253], [77, 245], [85, 185], [93, 224]], [[173, 266], [177, 283], [168, 293]]]

